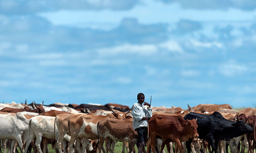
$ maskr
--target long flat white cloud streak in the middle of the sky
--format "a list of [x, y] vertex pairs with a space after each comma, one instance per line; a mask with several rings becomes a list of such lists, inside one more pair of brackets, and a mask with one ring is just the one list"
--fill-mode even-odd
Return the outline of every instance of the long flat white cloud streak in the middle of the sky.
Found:
[[140, 55], [151, 55], [157, 52], [155, 45], [132, 45], [124, 44], [112, 48], [102, 48], [98, 50], [101, 56], [115, 56], [117, 54], [140, 54]]

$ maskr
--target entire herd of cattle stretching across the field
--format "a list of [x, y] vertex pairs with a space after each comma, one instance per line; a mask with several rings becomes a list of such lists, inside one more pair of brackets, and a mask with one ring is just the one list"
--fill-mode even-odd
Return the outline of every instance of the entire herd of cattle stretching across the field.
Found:
[[[135, 153], [137, 132], [132, 128], [128, 106], [108, 103], [51, 105], [0, 103], [0, 139], [4, 153], [17, 147], [22, 152], [114, 152]], [[181, 107], [152, 107], [148, 120], [145, 152], [162, 153], [254, 153], [256, 109], [233, 110], [229, 104], [199, 104]], [[105, 146], [103, 146], [105, 142]], [[229, 148], [228, 148], [229, 146]], [[1, 151], [1, 150], [0, 150]], [[2, 152], [2, 151], [1, 151]]]

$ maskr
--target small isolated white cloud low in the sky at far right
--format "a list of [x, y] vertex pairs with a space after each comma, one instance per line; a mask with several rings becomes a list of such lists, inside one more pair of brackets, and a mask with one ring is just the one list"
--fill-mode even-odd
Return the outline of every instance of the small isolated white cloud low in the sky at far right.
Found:
[[234, 77], [235, 75], [241, 75], [248, 70], [246, 66], [238, 65], [236, 63], [228, 63], [219, 66], [219, 73], [226, 77]]

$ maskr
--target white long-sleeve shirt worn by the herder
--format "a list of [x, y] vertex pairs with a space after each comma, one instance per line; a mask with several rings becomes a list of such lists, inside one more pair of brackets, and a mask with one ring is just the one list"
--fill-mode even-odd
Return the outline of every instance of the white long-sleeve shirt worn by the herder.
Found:
[[140, 103], [135, 103], [131, 107], [131, 115], [133, 116], [133, 129], [147, 127], [147, 120], [141, 120], [143, 117], [152, 117], [152, 108], [148, 109]]

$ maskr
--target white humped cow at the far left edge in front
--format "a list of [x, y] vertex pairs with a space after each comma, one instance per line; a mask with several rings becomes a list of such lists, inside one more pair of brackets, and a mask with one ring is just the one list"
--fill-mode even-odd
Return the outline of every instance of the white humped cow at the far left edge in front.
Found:
[[4, 123], [0, 124], [0, 139], [16, 140], [22, 148], [22, 137], [26, 137], [28, 134], [29, 120], [22, 113], [16, 113], [15, 115], [0, 114], [0, 120]]

